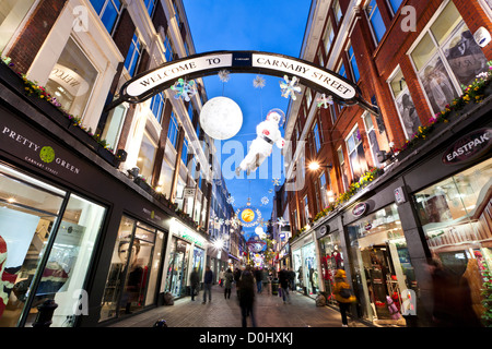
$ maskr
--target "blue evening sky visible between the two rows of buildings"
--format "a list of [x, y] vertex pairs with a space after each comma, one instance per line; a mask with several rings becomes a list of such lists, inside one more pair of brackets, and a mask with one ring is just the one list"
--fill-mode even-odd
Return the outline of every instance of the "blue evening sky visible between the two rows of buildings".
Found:
[[[184, 4], [197, 53], [255, 50], [296, 58], [301, 53], [311, 0], [184, 0]], [[286, 113], [289, 104], [281, 96], [280, 77], [261, 74], [266, 85], [263, 88], [255, 88], [253, 81], [256, 76], [257, 74], [231, 74], [230, 81], [225, 83], [218, 75], [203, 77], [209, 99], [224, 96], [239, 105], [243, 127], [231, 140], [244, 144], [244, 155], [247, 154], [247, 142], [256, 137], [256, 125], [265, 120], [268, 111], [280, 108]], [[283, 129], [281, 133], [283, 136]], [[222, 141], [221, 144], [216, 141], [215, 144], [223, 146], [224, 142], [227, 141]], [[276, 146], [273, 149], [280, 154]], [[222, 153], [222, 163], [230, 156], [231, 154]], [[280, 155], [276, 159], [279, 157]], [[272, 163], [273, 155], [248, 178], [243, 172], [239, 178], [234, 174], [232, 179], [225, 180], [229, 192], [234, 196], [236, 210], [251, 197], [251, 206], [260, 209], [265, 220], [270, 219], [274, 195], [273, 178], [281, 178], [281, 183], [284, 180], [283, 160], [276, 161], [274, 165]], [[238, 163], [231, 168], [223, 168], [224, 174], [232, 177], [235, 166]], [[269, 200], [267, 205], [261, 204], [263, 196]]]

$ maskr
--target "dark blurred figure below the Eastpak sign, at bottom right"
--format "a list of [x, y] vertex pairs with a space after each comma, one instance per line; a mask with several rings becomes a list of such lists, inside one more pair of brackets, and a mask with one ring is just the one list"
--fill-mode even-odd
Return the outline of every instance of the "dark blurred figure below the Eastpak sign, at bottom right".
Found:
[[429, 272], [433, 282], [434, 310], [432, 317], [437, 327], [480, 327], [476, 316], [468, 280], [431, 260]]

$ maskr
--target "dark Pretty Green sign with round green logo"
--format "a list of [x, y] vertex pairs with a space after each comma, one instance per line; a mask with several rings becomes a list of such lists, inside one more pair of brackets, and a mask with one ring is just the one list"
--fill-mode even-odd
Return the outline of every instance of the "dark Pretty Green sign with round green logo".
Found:
[[90, 179], [87, 167], [34, 128], [3, 110], [0, 111], [1, 148], [19, 159], [63, 180]]

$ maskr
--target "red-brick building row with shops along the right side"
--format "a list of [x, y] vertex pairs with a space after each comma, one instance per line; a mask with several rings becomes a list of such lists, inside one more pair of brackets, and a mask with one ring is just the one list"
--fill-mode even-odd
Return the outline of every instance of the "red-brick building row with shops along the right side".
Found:
[[[479, 324], [492, 266], [491, 19], [481, 0], [313, 2], [300, 58], [356, 84], [380, 112], [319, 103], [307, 87], [289, 105], [286, 181], [305, 177], [288, 193], [300, 291], [336, 304], [342, 268], [353, 316]], [[445, 291], [435, 268], [453, 275], [469, 306], [436, 316]]]

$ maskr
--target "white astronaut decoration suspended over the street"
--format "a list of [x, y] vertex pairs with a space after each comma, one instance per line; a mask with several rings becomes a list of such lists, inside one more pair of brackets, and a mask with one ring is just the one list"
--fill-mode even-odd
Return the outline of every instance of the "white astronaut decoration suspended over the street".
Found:
[[285, 115], [280, 109], [272, 109], [268, 112], [267, 119], [256, 127], [257, 137], [251, 142], [249, 152], [236, 168], [236, 174], [246, 171], [249, 176], [255, 171], [267, 157], [270, 156], [273, 144], [283, 148], [285, 140], [282, 137], [279, 127], [283, 124]]

